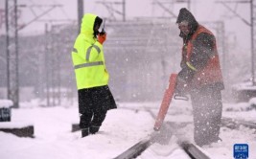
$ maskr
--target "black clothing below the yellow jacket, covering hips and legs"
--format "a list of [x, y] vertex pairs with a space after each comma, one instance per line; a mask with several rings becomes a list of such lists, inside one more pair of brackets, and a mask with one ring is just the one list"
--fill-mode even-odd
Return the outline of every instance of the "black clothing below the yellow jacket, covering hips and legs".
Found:
[[95, 133], [105, 120], [107, 110], [116, 108], [116, 103], [107, 85], [79, 90], [81, 129], [89, 128]]

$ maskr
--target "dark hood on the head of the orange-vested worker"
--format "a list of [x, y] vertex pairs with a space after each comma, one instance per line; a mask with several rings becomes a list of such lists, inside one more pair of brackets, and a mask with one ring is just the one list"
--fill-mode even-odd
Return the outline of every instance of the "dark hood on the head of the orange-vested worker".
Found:
[[196, 32], [196, 30], [198, 29], [198, 21], [196, 20], [194, 15], [185, 8], [182, 8], [179, 10], [179, 13], [178, 13], [178, 16], [176, 19], [176, 23], [181, 23], [182, 21], [188, 22], [190, 33], [186, 37], [185, 34], [180, 32], [179, 36], [183, 37], [183, 38], [186, 37], [187, 39], [189, 39], [189, 38], [191, 38], [192, 34], [194, 34]]

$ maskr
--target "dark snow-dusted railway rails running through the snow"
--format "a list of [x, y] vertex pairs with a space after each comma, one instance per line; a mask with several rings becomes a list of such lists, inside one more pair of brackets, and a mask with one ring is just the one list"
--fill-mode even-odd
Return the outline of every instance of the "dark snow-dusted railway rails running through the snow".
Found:
[[[151, 114], [151, 117], [155, 119], [154, 113], [152, 113], [150, 108], [144, 109], [146, 111], [149, 111]], [[192, 123], [184, 123], [184, 124], [179, 124], [182, 126], [192, 124]], [[149, 138], [146, 138], [144, 140], [141, 140], [140, 142], [136, 143], [134, 146], [131, 148], [128, 148], [126, 151], [118, 155], [115, 159], [132, 159], [136, 158], [139, 155], [143, 153], [144, 150], [147, 148], [150, 148], [152, 144], [154, 143], [161, 143], [163, 142], [168, 142], [170, 141], [173, 133], [172, 133], [172, 125], [175, 125], [175, 123], [165, 123], [163, 125], [163, 129], [161, 129], [159, 132], [154, 131], [151, 133]], [[246, 122], [246, 121], [240, 121], [240, 120], [234, 120], [231, 118], [225, 118], [223, 117], [221, 120], [221, 126], [226, 126], [228, 128], [234, 129], [234, 128], [239, 128], [241, 125], [244, 125], [249, 128], [254, 128], [256, 129], [256, 124], [252, 122]], [[168, 128], [169, 130], [167, 130]], [[173, 127], [173, 129], [176, 127]], [[166, 133], [168, 132], [168, 133]], [[170, 133], [171, 132], [171, 133]], [[169, 134], [169, 135], [168, 135]], [[205, 153], [203, 153], [197, 146], [194, 144], [187, 142], [187, 141], [182, 141], [179, 139], [177, 141], [177, 144], [180, 148], [184, 149], [184, 151], [188, 154], [188, 156], [192, 159], [210, 159], [209, 156], [207, 156]]]

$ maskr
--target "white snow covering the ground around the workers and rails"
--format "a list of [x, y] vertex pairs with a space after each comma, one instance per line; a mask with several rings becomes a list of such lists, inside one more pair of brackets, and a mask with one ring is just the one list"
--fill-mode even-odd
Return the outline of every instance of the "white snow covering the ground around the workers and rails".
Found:
[[[79, 123], [78, 106], [40, 107], [37, 102], [21, 104], [12, 109], [9, 125], [34, 125], [35, 138], [20, 138], [0, 131], [1, 159], [110, 159], [118, 156], [142, 139], [149, 137], [160, 102], [119, 103], [110, 110], [104, 125], [96, 135], [81, 138], [81, 132], [71, 132]], [[224, 103], [223, 116], [254, 121], [256, 110], [250, 103]], [[174, 101], [165, 119], [167, 122], [189, 125], [175, 127], [176, 134], [193, 143], [192, 109], [189, 102]], [[0, 123], [0, 127], [7, 123]], [[234, 144], [248, 144], [249, 159], [256, 158], [256, 130], [221, 127], [222, 142], [201, 148], [213, 159], [233, 158]], [[189, 159], [175, 144], [176, 136], [166, 145], [153, 144], [138, 159]]]

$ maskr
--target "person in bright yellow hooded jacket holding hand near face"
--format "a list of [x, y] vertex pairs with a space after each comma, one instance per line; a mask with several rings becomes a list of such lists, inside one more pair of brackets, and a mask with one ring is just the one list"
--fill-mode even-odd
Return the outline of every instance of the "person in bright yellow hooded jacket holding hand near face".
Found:
[[84, 14], [81, 32], [72, 51], [79, 94], [81, 137], [98, 132], [107, 110], [116, 108], [107, 85], [109, 75], [103, 51], [106, 34], [99, 32], [102, 23], [103, 19], [99, 16]]

